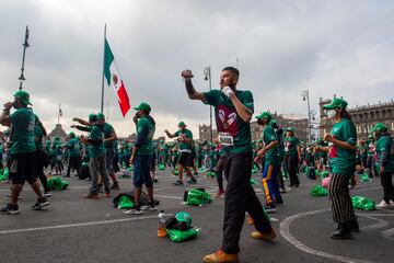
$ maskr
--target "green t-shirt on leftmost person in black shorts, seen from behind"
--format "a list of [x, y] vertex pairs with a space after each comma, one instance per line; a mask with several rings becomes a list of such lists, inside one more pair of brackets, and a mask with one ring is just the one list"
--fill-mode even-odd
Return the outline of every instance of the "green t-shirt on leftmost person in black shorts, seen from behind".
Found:
[[10, 153], [34, 152], [36, 150], [34, 141], [35, 117], [32, 108], [19, 108], [10, 115], [10, 118], [12, 121]]

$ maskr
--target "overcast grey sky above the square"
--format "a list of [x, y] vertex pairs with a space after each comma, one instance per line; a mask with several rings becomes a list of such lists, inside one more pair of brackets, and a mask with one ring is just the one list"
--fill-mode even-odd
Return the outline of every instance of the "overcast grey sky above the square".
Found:
[[[318, 98], [343, 95], [350, 107], [386, 102], [394, 91], [393, 1], [0, 0], [0, 103], [18, 90], [25, 25], [24, 88], [48, 130], [70, 132], [71, 118], [100, 111], [103, 31], [130, 102], [146, 101], [157, 136], [184, 121], [198, 137], [209, 107], [187, 99], [179, 73], [192, 69], [197, 90], [212, 87], [225, 66], [239, 66], [239, 89], [251, 90], [255, 112], [306, 116]], [[106, 88], [105, 111], [121, 136], [135, 132]], [[109, 105], [109, 106], [107, 106]], [[3, 129], [3, 128], [0, 128]]]

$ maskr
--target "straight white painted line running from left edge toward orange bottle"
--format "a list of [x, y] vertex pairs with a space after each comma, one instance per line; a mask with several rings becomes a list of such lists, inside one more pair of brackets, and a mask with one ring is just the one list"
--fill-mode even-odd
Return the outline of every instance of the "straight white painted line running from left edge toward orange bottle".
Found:
[[158, 218], [158, 216], [144, 216], [144, 217], [123, 218], [123, 219], [113, 219], [113, 220], [104, 220], [104, 221], [77, 222], [77, 224], [67, 224], [67, 225], [48, 226], [48, 227], [36, 227], [36, 228], [22, 228], [22, 229], [2, 230], [2, 231], [0, 231], [0, 235], [20, 233], [20, 232], [33, 232], [33, 231], [61, 229], [61, 228], [74, 228], [74, 227], [97, 226], [97, 225], [107, 225], [107, 224], [115, 224], [115, 222], [137, 221], [137, 220], [151, 219], [151, 218]]

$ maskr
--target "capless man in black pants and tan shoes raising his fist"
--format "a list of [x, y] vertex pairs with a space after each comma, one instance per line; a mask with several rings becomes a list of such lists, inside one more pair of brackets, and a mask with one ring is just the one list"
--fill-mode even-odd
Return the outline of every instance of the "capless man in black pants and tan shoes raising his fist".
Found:
[[250, 91], [236, 90], [240, 71], [227, 67], [220, 76], [220, 90], [197, 92], [192, 83], [192, 70], [184, 70], [182, 77], [190, 100], [199, 100], [215, 107], [219, 142], [225, 146], [224, 173], [228, 179], [224, 196], [224, 221], [222, 247], [206, 255], [205, 262], [237, 262], [240, 233], [245, 211], [253, 218], [257, 231], [252, 238], [273, 240], [276, 237], [267, 215], [251, 185], [252, 138], [251, 119], [254, 111]]

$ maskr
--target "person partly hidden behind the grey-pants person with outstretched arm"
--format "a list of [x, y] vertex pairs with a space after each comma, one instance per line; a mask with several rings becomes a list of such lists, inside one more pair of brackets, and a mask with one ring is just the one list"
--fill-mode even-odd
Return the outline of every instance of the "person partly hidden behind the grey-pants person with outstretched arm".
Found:
[[105, 148], [105, 163], [108, 170], [109, 178], [113, 182], [111, 185], [112, 190], [119, 190], [119, 183], [115, 176], [114, 170], [114, 156], [115, 156], [115, 144], [117, 140], [117, 135], [114, 127], [105, 121], [105, 115], [103, 113], [97, 113], [99, 125], [101, 125], [104, 133], [104, 148]]

